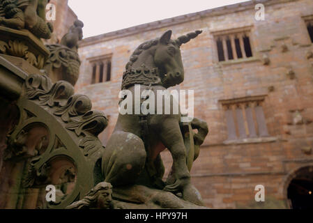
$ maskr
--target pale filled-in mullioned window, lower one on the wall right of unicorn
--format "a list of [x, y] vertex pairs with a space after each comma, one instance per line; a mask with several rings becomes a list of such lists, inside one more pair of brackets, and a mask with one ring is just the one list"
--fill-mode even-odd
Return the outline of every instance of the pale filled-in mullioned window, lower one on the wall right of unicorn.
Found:
[[265, 96], [221, 100], [224, 107], [228, 140], [268, 137], [262, 104]]

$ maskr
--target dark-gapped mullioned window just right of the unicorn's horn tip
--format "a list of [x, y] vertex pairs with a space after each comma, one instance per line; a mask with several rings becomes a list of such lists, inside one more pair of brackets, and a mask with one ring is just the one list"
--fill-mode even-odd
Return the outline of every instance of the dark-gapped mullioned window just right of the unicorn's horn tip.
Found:
[[213, 32], [217, 45], [218, 61], [231, 61], [253, 56], [250, 30], [241, 28]]

